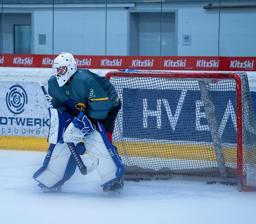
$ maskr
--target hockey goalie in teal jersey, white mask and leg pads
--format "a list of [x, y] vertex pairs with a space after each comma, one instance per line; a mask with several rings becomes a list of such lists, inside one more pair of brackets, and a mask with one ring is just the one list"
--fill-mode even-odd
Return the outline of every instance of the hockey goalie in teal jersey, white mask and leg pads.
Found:
[[[78, 166], [82, 174], [96, 169], [106, 194], [122, 194], [125, 172], [112, 133], [121, 101], [106, 77], [77, 69], [74, 56], [62, 52], [52, 65], [48, 80], [50, 128], [43, 166], [33, 178], [44, 192], [60, 191]], [[83, 140], [83, 143], [81, 141]], [[87, 151], [92, 164], [80, 155]]]

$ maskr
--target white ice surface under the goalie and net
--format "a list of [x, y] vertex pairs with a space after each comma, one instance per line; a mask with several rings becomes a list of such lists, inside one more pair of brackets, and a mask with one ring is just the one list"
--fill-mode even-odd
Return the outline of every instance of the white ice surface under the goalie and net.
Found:
[[77, 169], [62, 192], [46, 194], [32, 178], [45, 154], [0, 150], [1, 224], [256, 223], [256, 192], [221, 184], [125, 181], [124, 196], [106, 198], [97, 171], [83, 176]]

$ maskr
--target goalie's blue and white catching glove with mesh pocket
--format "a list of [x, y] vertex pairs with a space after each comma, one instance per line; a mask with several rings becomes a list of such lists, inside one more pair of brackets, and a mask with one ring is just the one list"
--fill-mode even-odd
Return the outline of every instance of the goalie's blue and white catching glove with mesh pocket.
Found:
[[90, 122], [85, 113], [80, 111], [80, 114], [66, 128], [63, 135], [64, 142], [78, 143], [95, 130], [95, 125]]

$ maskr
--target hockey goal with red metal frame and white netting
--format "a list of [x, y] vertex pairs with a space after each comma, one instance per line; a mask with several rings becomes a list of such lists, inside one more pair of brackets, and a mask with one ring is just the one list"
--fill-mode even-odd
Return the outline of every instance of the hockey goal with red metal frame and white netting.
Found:
[[246, 73], [109, 72], [122, 102], [113, 143], [126, 174], [237, 179], [256, 190]]

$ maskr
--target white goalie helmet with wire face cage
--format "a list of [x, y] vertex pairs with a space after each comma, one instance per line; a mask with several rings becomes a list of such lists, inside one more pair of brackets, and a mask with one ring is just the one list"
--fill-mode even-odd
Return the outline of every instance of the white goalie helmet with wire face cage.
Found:
[[59, 86], [63, 86], [68, 79], [76, 72], [76, 61], [70, 53], [62, 52], [54, 59], [52, 72], [57, 78]]

